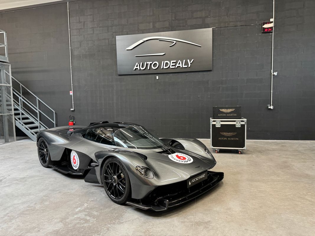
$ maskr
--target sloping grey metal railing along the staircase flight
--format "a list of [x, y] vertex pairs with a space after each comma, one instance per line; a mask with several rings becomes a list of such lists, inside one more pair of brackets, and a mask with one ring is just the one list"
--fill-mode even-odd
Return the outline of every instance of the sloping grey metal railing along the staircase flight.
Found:
[[[7, 74], [10, 75], [9, 73], [7, 73]], [[20, 85], [20, 92], [18, 92], [14, 87], [12, 87], [13, 93], [17, 97], [19, 97], [19, 103], [15, 100], [14, 101], [20, 105], [20, 108], [23, 108], [23, 102], [26, 103], [29, 107], [31, 107], [31, 109], [33, 109], [37, 113], [37, 118], [35, 118], [35, 116], [33, 116], [33, 115], [32, 116], [34, 117], [35, 120], [37, 120], [38, 130], [40, 129], [40, 123], [43, 124], [39, 119], [39, 114], [44, 115], [49, 121], [51, 121], [54, 124], [54, 127], [56, 127], [56, 112], [51, 107], [49, 107], [46, 103], [44, 103], [40, 98], [38, 98], [34, 93], [32, 93], [28, 88], [26, 88], [23, 84], [21, 84], [17, 79], [15, 79], [13, 76], [11, 76], [11, 78]], [[36, 98], [36, 105], [33, 104], [32, 102], [30, 102], [27, 98], [25, 98], [23, 96], [22, 87]], [[54, 114], [53, 119], [51, 119], [48, 115], [46, 115], [45, 113], [43, 113], [42, 110], [39, 109], [39, 102], [41, 104], [45, 105], [46, 108], [48, 108], [50, 111], [53, 112], [53, 114]], [[47, 126], [45, 126], [45, 127], [47, 127]]]

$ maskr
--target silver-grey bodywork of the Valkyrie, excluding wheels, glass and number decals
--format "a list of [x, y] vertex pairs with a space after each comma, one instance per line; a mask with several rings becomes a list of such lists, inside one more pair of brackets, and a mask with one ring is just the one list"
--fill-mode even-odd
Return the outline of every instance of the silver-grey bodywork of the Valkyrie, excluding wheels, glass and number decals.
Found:
[[[135, 126], [135, 124], [120, 122], [108, 123], [106, 126], [113, 126], [114, 128], [119, 126], [120, 128], [123, 128]], [[69, 129], [74, 130], [69, 132]], [[210, 189], [208, 189], [210, 185], [207, 185], [203, 181], [202, 184], [207, 185], [208, 187], [200, 188], [200, 184], [197, 184], [194, 188], [199, 186], [199, 194], [192, 194], [189, 195], [190, 197], [187, 197], [188, 194], [185, 191], [189, 190], [189, 188], [187, 188], [187, 186], [182, 187], [184, 186], [182, 183], [186, 183], [187, 179], [212, 169], [216, 164], [213, 155], [209, 152], [206, 146], [195, 138], [161, 138], [161, 140], [165, 143], [165, 146], [172, 149], [173, 152], [182, 153], [192, 157], [192, 163], [183, 164], [172, 161], [169, 158], [169, 153], [163, 153], [162, 149], [122, 148], [88, 140], [83, 137], [84, 135], [82, 135], [86, 129], [88, 129], [86, 126], [62, 126], [38, 133], [37, 140], [40, 137], [45, 139], [48, 144], [51, 160], [57, 163], [51, 167], [63, 173], [85, 176], [84, 180], [88, 183], [103, 184], [101, 181], [103, 164], [106, 159], [116, 157], [123, 162], [130, 179], [131, 197], [133, 200], [127, 202], [127, 204], [154, 211], [166, 210], [167, 207], [174, 205], [172, 203], [172, 199], [165, 197], [165, 191], [162, 191], [163, 186], [181, 186], [180, 189], [177, 190], [177, 193], [181, 195], [184, 194], [186, 196], [186, 200], [191, 199], [191, 197], [196, 197]], [[174, 142], [181, 143], [185, 150], [179, 150], [172, 147], [171, 145]], [[72, 150], [77, 153], [80, 160], [77, 170], [74, 170], [69, 163], [70, 152]], [[136, 171], [136, 166], [145, 166], [150, 168], [154, 174], [153, 179], [142, 177]], [[209, 176], [210, 172], [208, 171], [207, 173]], [[212, 177], [213, 175], [210, 175], [210, 178], [208, 178], [207, 181], [209, 181]], [[222, 179], [223, 173], [221, 173], [220, 177], [215, 179], [214, 183], [211, 183], [211, 186], [213, 187]], [[161, 189], [161, 191], [159, 189]], [[164, 194], [161, 196], [162, 200], [168, 201], [167, 207], [166, 204], [161, 204], [161, 199], [158, 201], [156, 201], [156, 199], [152, 199], [152, 193], [157, 192]], [[141, 200], [146, 202], [146, 205], [143, 205]], [[150, 200], [152, 200], [151, 203]], [[178, 204], [183, 202], [185, 201], [177, 201]], [[152, 207], [152, 204], [156, 207]]]

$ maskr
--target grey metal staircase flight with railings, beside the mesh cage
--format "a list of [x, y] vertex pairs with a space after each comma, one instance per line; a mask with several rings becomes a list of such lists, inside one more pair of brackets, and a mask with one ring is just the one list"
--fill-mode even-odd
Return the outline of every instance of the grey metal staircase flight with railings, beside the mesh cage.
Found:
[[15, 125], [36, 141], [36, 134], [48, 129], [46, 124], [56, 127], [56, 113], [13, 76], [11, 78]]

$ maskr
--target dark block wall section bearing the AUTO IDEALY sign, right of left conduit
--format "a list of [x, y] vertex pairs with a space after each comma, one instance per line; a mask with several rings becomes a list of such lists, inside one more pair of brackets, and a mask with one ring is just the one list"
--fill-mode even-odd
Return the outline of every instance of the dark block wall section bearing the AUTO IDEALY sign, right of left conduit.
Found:
[[[77, 123], [131, 121], [159, 136], [209, 138], [212, 106], [241, 105], [250, 139], [314, 139], [314, 1], [276, 2], [273, 110], [267, 109], [272, 35], [251, 25], [272, 18], [272, 1], [83, 0], [69, 6]], [[116, 35], [234, 25], [248, 26], [213, 29], [212, 71], [158, 74], [158, 80], [117, 75]], [[56, 84], [69, 86], [69, 78]], [[66, 90], [55, 100], [68, 103]], [[68, 114], [69, 108], [56, 110]]]

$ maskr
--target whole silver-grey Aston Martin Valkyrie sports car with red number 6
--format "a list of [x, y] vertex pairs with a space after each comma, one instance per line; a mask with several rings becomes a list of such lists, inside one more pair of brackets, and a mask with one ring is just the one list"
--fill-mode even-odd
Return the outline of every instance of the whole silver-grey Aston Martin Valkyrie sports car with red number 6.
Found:
[[102, 121], [37, 134], [39, 161], [104, 186], [115, 203], [164, 211], [207, 192], [222, 179], [216, 161], [195, 138], [157, 138], [145, 127]]

